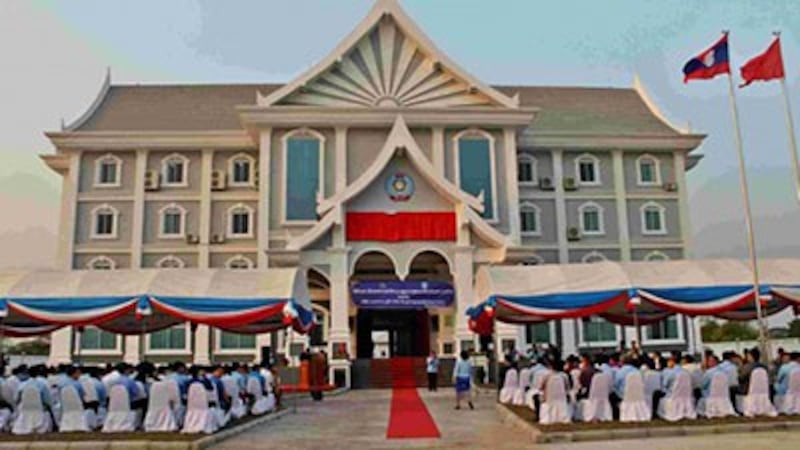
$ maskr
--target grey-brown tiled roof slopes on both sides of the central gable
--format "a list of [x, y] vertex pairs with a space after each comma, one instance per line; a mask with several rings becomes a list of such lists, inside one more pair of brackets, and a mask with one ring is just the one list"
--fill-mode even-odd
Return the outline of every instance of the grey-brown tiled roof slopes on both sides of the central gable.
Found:
[[[279, 84], [111, 86], [76, 131], [239, 130], [238, 105], [256, 103]], [[655, 134], [674, 136], [633, 89], [500, 86], [520, 95], [523, 106], [541, 109], [533, 132]]]

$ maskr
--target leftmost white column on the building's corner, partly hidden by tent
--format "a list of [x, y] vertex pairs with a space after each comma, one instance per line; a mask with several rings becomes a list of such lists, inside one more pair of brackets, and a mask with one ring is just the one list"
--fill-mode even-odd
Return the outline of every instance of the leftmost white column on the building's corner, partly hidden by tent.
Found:
[[[69, 171], [61, 180], [61, 216], [59, 218], [58, 267], [73, 269], [75, 247], [75, 215], [78, 208], [78, 183], [80, 181], [81, 152], [70, 151]], [[68, 363], [72, 360], [72, 327], [64, 327], [52, 333], [49, 365]]]

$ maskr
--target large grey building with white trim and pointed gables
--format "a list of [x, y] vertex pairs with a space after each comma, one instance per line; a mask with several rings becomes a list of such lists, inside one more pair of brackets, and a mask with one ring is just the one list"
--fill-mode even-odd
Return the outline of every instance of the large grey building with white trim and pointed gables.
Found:
[[[704, 138], [669, 124], [638, 82], [485, 84], [392, 0], [287, 84], [109, 77], [82, 117], [47, 136], [56, 151], [43, 159], [63, 176], [63, 268], [299, 266], [320, 323], [309, 338], [67, 328], [52, 361], [204, 363], [310, 343], [326, 346], [347, 380], [350, 360], [377, 356], [377, 341], [389, 356], [474, 346], [465, 311], [478, 301], [481, 265], [688, 257], [686, 173]], [[351, 301], [354, 283], [391, 280], [447, 282], [455, 300], [404, 311]], [[505, 345], [574, 352], [634, 333], [592, 317], [497, 334]], [[686, 348], [697, 336], [674, 317], [643, 341]]]

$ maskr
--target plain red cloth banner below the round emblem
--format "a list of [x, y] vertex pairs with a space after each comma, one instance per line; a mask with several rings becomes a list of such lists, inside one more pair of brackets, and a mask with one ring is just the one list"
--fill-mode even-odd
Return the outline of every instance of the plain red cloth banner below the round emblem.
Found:
[[347, 213], [348, 241], [455, 241], [452, 212]]

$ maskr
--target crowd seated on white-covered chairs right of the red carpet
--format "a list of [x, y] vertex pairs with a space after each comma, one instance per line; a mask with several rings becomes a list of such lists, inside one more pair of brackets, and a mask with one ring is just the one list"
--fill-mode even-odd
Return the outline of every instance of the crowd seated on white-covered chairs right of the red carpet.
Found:
[[758, 348], [743, 356], [707, 351], [701, 361], [673, 352], [569, 356], [506, 355], [500, 402], [528, 406], [543, 424], [644, 422], [800, 414], [800, 352], [779, 350], [769, 366]]

